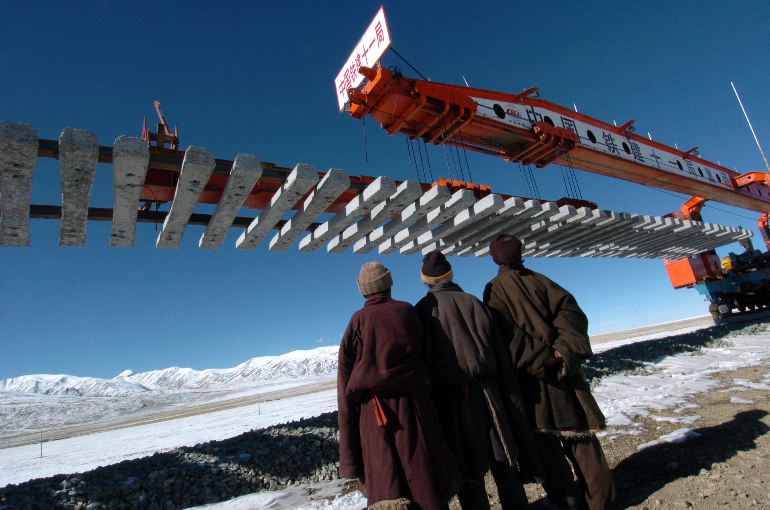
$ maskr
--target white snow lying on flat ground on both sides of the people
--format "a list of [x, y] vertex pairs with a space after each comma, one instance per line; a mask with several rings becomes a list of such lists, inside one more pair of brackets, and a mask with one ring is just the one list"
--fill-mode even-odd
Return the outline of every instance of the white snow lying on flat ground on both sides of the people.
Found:
[[[676, 333], [684, 333], [684, 331], [677, 330]], [[595, 351], [604, 351], [621, 344], [647, 339], [648, 337], [628, 338], [598, 344], [595, 346]], [[637, 418], [657, 419], [657, 411], [670, 408], [675, 408], [676, 412], [688, 405], [689, 395], [718, 387], [721, 383], [709, 379], [710, 374], [732, 368], [765, 364], [762, 360], [770, 357], [770, 334], [731, 337], [728, 341], [731, 343], [729, 347], [703, 348], [696, 355], [677, 354], [645, 364], [648, 375], [616, 375], [605, 378], [594, 389], [594, 395], [602, 411], [607, 415], [608, 425], [611, 428], [602, 435], [638, 434], [641, 431], [641, 423], [636, 421]], [[768, 377], [770, 374], [765, 376], [765, 380], [751, 384], [760, 384], [762, 389], [766, 388], [770, 391]], [[316, 391], [260, 404], [261, 414], [257, 414], [256, 405], [243, 405], [195, 416], [51, 441], [44, 444], [45, 456], [42, 459], [39, 458], [39, 445], [0, 449], [0, 486], [59, 472], [85, 471], [97, 465], [107, 465], [125, 458], [151, 455], [154, 451], [168, 450], [180, 445], [194, 445], [197, 442], [228, 438], [248, 431], [250, 428], [260, 428], [333, 411], [336, 408], [335, 390], [330, 388], [317, 391], [320, 383], [333, 384], [333, 379], [334, 377], [330, 375], [298, 377], [295, 381], [272, 384], [271, 386], [275, 387], [288, 384], [296, 390], [307, 387], [310, 391]], [[278, 381], [275, 382], [278, 383]], [[723, 391], [739, 392], [745, 388], [745, 384], [747, 383], [744, 381], [734, 381]], [[263, 388], [261, 391], [266, 391], [265, 386], [261, 388]], [[660, 418], [672, 421], [668, 417]], [[697, 421], [697, 417], [691, 416], [682, 418], [677, 423], [697, 428]], [[661, 441], [666, 440], [667, 438], [661, 438]], [[241, 508], [308, 508], [310, 510], [321, 505], [317, 502], [303, 502], [298, 494], [293, 495], [290, 492], [292, 489], [285, 494], [246, 495], [209, 506], [216, 506], [217, 510], [240, 510]], [[330, 486], [327, 490], [336, 489]], [[338, 498], [329, 505], [340, 510], [363, 508], [365, 501], [357, 494], [351, 493]]]

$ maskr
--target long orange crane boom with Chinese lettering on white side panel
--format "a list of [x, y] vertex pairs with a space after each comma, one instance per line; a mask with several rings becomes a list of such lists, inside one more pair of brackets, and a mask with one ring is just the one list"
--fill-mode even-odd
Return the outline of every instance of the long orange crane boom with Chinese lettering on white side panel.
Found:
[[444, 143], [537, 167], [572, 166], [632, 183], [686, 193], [760, 213], [770, 211], [767, 182], [738, 173], [543, 99], [405, 78], [361, 68], [369, 79], [350, 89], [350, 116], [371, 116], [389, 134]]

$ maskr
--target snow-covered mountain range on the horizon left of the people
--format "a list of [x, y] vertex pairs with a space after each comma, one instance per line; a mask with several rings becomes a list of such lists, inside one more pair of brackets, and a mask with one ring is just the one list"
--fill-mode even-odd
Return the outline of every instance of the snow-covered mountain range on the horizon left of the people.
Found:
[[223, 388], [256, 381], [318, 377], [336, 372], [338, 346], [253, 357], [234, 368], [170, 367], [135, 374], [123, 371], [112, 379], [73, 375], [22, 375], [0, 381], [0, 391], [74, 397], [123, 397], [159, 390]]

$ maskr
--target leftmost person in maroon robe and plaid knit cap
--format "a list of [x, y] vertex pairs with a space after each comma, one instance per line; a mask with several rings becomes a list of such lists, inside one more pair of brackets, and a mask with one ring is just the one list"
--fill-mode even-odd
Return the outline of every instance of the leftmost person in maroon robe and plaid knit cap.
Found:
[[374, 510], [448, 510], [464, 478], [430, 398], [420, 319], [390, 297], [381, 263], [364, 264], [357, 284], [367, 300], [343, 334], [337, 370], [340, 476], [358, 478]]

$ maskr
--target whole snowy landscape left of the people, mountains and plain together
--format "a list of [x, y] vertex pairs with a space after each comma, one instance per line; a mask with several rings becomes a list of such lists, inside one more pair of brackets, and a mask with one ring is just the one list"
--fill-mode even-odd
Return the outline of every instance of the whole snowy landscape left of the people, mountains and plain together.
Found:
[[[255, 357], [231, 369], [0, 381], [0, 448], [14, 446], [0, 449], [0, 487], [333, 410], [338, 348]], [[50, 439], [43, 458], [39, 445], [27, 444], [41, 431]]]

